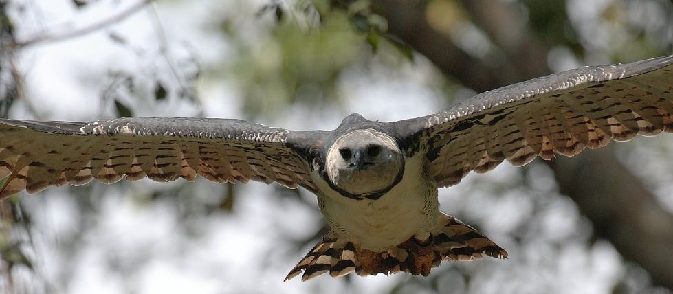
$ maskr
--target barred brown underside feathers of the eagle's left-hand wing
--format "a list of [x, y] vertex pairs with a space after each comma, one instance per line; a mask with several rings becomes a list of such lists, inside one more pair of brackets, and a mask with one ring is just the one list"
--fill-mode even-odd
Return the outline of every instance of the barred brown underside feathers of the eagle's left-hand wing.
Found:
[[0, 199], [21, 190], [35, 193], [93, 179], [194, 181], [197, 174], [217, 182], [278, 182], [316, 190], [304, 160], [281, 144], [261, 139], [66, 135], [12, 124], [0, 123], [0, 179], [6, 178]]

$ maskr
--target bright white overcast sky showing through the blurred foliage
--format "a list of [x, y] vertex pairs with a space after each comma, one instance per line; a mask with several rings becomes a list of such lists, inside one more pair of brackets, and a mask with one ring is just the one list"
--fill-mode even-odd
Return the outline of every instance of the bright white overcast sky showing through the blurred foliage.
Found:
[[[609, 0], [582, 1], [592, 3], [585, 6], [588, 10], [569, 11], [581, 20], [583, 15], [591, 15], [592, 7], [606, 1]], [[137, 1], [100, 0], [77, 9], [70, 0], [16, 0], [10, 15], [17, 37], [25, 40], [45, 31], [67, 32], [85, 27], [134, 3]], [[241, 109], [241, 89], [236, 79], [223, 78], [217, 73], [220, 68], [216, 65], [236, 58], [236, 52], [230, 41], [214, 30], [217, 21], [229, 18], [239, 30], [245, 30], [248, 42], [267, 38], [274, 21], [255, 14], [269, 1], [195, 3], [158, 1], [99, 32], [21, 50], [17, 60], [25, 74], [28, 99], [15, 102], [10, 117], [40, 120], [113, 117], [115, 109], [111, 104], [98, 99], [102, 84], [109, 82], [110, 71], [157, 72], [165, 75], [161, 76], [164, 80], [174, 80], [165, 60], [146, 58], [157, 55], [162, 46], [162, 40], [157, 38], [157, 22], [153, 21], [156, 15], [161, 30], [166, 32], [165, 45], [170, 56], [175, 60], [195, 57], [195, 63], [181, 64], [181, 69], [189, 71], [188, 67], [198, 65], [203, 71], [197, 84], [201, 106], [176, 99], [155, 103], [129, 98], [134, 114], [247, 118]], [[115, 43], [111, 35], [122, 36], [128, 45]], [[478, 36], [464, 37], [466, 42], [479, 42]], [[555, 54], [550, 58], [555, 70], [582, 64], [563, 50]], [[436, 89], [441, 80], [421, 56], [415, 63], [406, 63], [394, 71], [383, 63], [371, 71], [353, 69], [339, 80], [339, 91], [347, 97], [342, 109], [312, 112], [304, 106], [292, 106], [279, 109], [283, 115], [260, 117], [258, 122], [291, 129], [331, 129], [352, 112], [370, 120], [427, 115], [447, 106], [442, 92]], [[459, 93], [472, 94], [470, 90]], [[670, 141], [670, 137], [665, 139]], [[654, 161], [652, 157], [657, 152], [672, 150], [671, 144], [662, 143], [665, 139], [639, 142], [638, 148], [632, 145], [621, 152], [632, 155], [628, 162]], [[665, 170], [665, 165], [658, 163], [660, 170]], [[662, 195], [663, 203], [673, 207], [673, 200], [666, 196], [673, 188], [670, 183], [665, 184], [668, 178], [662, 177], [650, 185]], [[22, 202], [34, 222], [35, 247], [31, 258], [36, 273], [47, 281], [49, 288], [32, 283], [34, 275], [26, 272], [17, 289], [23, 288], [27, 293], [388, 293], [397, 282], [409, 279], [408, 275], [368, 278], [353, 275], [349, 284], [346, 279], [322, 275], [306, 283], [298, 278], [284, 283], [287, 272], [313, 246], [297, 250], [288, 239], [307, 238], [324, 222], [315, 196], [301, 191], [311, 204], [306, 205], [296, 199], [276, 197], [278, 193], [272, 186], [250, 183], [239, 186], [234, 212], [192, 218], [193, 223], [189, 224], [181, 223], [179, 213], [184, 207], [175, 207], [174, 201], [146, 201], [155, 190], [179, 190], [182, 185], [140, 181], [114, 186], [93, 183], [76, 188], [88, 189], [92, 201], [97, 203], [97, 210], [87, 215], [80, 215], [76, 209], [70, 187], [23, 196]], [[194, 196], [206, 202], [220, 201], [225, 189], [203, 180], [195, 185], [199, 193]], [[447, 262], [439, 268], [441, 271], [470, 271], [475, 273], [474, 280], [483, 282], [448, 278], [439, 282], [440, 289], [452, 293], [610, 291], [628, 269], [608, 242], [599, 240], [587, 245], [591, 224], [580, 216], [571, 200], [555, 189], [551, 172], [544, 165], [533, 163], [522, 174], [505, 163], [488, 174], [470, 174], [461, 185], [440, 190], [445, 212], [476, 223], [511, 254], [505, 261], [486, 259], [459, 265]], [[496, 191], [500, 195], [494, 198]], [[531, 201], [531, 197], [536, 200]], [[85, 231], [82, 222], [88, 224]], [[517, 236], [530, 240], [520, 245], [513, 234], [524, 222], [531, 222], [534, 229], [529, 236]], [[185, 227], [190, 231], [186, 233]], [[80, 242], [69, 241], [82, 232]]]

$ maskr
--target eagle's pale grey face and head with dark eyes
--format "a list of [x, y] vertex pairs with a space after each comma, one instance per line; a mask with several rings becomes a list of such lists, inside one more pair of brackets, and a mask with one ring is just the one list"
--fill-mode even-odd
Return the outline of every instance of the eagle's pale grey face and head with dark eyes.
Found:
[[329, 180], [356, 196], [387, 190], [395, 185], [404, 168], [395, 140], [373, 129], [339, 137], [327, 151], [326, 159]]

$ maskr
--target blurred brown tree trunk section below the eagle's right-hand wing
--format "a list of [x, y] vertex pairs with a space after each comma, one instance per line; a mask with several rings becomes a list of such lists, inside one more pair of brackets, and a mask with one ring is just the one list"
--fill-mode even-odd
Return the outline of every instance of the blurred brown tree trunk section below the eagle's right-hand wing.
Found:
[[640, 264], [655, 284], [673, 289], [673, 215], [608, 148], [549, 163], [560, 192], [591, 219], [595, 234], [624, 258]]

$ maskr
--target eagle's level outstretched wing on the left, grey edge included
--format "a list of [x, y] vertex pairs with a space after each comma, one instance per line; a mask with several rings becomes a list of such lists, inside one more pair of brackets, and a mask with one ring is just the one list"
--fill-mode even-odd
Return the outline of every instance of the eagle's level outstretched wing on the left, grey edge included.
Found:
[[[0, 199], [21, 190], [149, 177], [221, 183], [249, 180], [316, 191], [307, 150], [321, 131], [243, 120], [120, 118], [96, 122], [0, 119]], [[300, 142], [296, 142], [300, 141]], [[308, 148], [308, 147], [307, 147]]]

